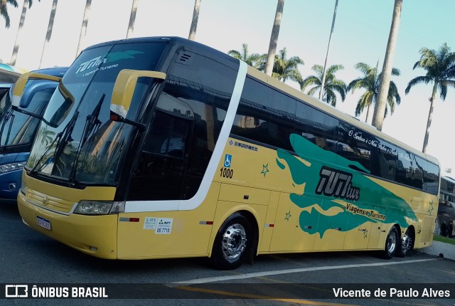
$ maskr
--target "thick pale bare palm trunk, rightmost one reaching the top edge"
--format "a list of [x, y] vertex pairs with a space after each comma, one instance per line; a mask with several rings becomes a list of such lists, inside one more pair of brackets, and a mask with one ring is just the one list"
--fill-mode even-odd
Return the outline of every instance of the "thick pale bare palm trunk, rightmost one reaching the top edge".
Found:
[[395, 46], [397, 45], [398, 28], [400, 26], [400, 16], [403, 0], [395, 0], [393, 6], [392, 25], [390, 26], [389, 41], [387, 41], [387, 49], [385, 50], [384, 64], [382, 65], [382, 73], [380, 73], [380, 87], [378, 94], [378, 102], [375, 106], [373, 114], [373, 126], [378, 130], [382, 130], [382, 123], [385, 118], [386, 100], [389, 97], [389, 84], [392, 76], [393, 56], [395, 55]]

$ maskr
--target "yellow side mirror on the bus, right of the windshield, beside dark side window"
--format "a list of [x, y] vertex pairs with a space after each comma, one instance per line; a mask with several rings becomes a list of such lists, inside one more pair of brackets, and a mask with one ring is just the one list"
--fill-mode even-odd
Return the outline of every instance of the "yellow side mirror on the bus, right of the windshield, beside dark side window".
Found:
[[133, 98], [134, 90], [136, 89], [137, 79], [141, 77], [156, 78], [160, 81], [166, 79], [166, 73], [148, 70], [121, 70], [115, 80], [114, 90], [112, 90], [112, 98], [110, 105], [110, 118], [112, 121], [125, 122], [129, 125], [144, 128], [138, 122], [127, 120], [129, 107]]

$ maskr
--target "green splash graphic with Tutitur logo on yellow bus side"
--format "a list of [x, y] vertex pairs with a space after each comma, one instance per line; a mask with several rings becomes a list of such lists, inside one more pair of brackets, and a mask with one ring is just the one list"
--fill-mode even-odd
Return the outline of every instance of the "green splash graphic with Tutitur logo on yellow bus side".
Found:
[[[302, 231], [310, 234], [319, 233], [322, 238], [334, 224], [343, 224], [340, 228], [336, 227], [338, 231], [350, 231], [368, 221], [397, 222], [402, 228], [409, 226], [407, 218], [417, 221], [414, 211], [405, 200], [360, 172], [341, 170], [353, 167], [369, 173], [360, 163], [322, 149], [299, 134], [291, 134], [289, 139], [296, 154], [304, 161], [283, 149], [278, 149], [277, 165], [285, 170], [286, 165], [282, 162], [284, 161], [289, 167], [294, 184], [304, 184], [306, 191], [303, 194], [289, 196], [294, 204], [304, 209], [299, 218]], [[311, 162], [307, 159], [311, 159]], [[336, 161], [336, 165], [333, 166], [341, 169], [323, 166], [318, 160]], [[323, 195], [324, 199], [316, 199], [311, 193]], [[378, 199], [382, 203], [378, 210], [382, 211], [368, 207], [369, 203], [378, 203]], [[385, 206], [390, 209], [386, 210]], [[317, 226], [307, 226], [308, 224]]]

